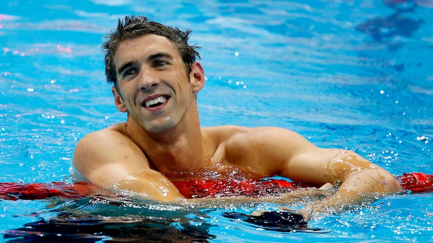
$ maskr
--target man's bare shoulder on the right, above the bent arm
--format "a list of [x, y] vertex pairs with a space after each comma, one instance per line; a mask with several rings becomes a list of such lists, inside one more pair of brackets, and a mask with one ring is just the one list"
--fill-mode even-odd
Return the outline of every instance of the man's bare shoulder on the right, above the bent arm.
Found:
[[283, 164], [302, 149], [314, 147], [296, 132], [278, 127], [222, 126], [206, 132], [218, 140], [229, 163], [268, 176], [280, 173]]

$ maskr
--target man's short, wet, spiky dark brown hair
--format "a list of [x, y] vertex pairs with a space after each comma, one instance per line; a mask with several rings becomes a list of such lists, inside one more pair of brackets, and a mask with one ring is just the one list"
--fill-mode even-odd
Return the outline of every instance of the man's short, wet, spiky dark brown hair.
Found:
[[157, 22], [149, 21], [144, 16], [126, 16], [125, 20], [119, 19], [119, 24], [116, 30], [113, 30], [105, 36], [105, 42], [101, 49], [105, 53], [105, 76], [107, 83], [112, 84], [117, 88], [116, 67], [114, 65], [114, 56], [119, 44], [125, 40], [131, 40], [148, 34], [166, 37], [182, 57], [183, 64], [187, 74], [191, 72], [191, 64], [195, 59], [200, 59], [200, 55], [196, 49], [200, 48], [195, 45], [188, 45], [188, 39], [191, 30], [181, 31], [178, 28], [172, 28], [162, 25]]

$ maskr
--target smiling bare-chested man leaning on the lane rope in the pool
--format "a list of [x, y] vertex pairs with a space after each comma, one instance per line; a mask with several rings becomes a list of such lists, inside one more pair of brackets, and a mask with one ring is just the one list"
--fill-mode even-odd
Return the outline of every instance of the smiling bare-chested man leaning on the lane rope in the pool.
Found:
[[352, 151], [318, 148], [276, 127], [200, 127], [196, 96], [205, 83], [196, 46], [182, 32], [126, 17], [106, 38], [105, 74], [117, 109], [127, 121], [84, 136], [73, 166], [103, 188], [178, 201], [176, 180], [255, 179], [284, 176], [320, 187], [338, 186], [314, 202], [354, 204], [372, 193], [394, 193], [398, 181]]

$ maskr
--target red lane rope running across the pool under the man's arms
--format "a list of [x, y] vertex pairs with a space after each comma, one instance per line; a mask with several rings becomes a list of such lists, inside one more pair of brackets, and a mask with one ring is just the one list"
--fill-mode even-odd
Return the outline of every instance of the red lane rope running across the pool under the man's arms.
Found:
[[[420, 172], [404, 173], [397, 177], [403, 190], [412, 193], [433, 192], [433, 175]], [[284, 179], [247, 180], [186, 180], [173, 182], [186, 198], [218, 196], [261, 197], [269, 194], [285, 193], [302, 187], [296, 182]], [[34, 200], [57, 196], [64, 198], [82, 198], [94, 196], [101, 189], [91, 183], [18, 183], [0, 182], [0, 199]]]

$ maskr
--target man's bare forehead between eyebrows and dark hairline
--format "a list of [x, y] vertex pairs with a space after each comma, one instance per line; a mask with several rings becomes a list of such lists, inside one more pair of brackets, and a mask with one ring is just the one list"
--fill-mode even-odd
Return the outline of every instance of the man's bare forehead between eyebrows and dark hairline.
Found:
[[180, 58], [175, 45], [166, 37], [149, 34], [120, 42], [114, 63], [119, 67], [122, 63], [137, 61], [156, 53], [168, 53], [174, 58]]

